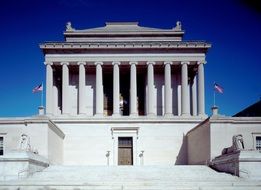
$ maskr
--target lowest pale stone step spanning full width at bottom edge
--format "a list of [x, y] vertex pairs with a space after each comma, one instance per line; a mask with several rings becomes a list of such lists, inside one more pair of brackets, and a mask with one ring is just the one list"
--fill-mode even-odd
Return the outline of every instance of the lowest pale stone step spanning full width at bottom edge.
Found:
[[83, 183], [82, 181], [9, 181], [0, 182], [0, 189], [5, 190], [31, 190], [31, 189], [52, 189], [52, 190], [260, 190], [261, 181], [239, 181], [239, 182], [179, 182], [179, 183], [134, 183], [112, 184]]

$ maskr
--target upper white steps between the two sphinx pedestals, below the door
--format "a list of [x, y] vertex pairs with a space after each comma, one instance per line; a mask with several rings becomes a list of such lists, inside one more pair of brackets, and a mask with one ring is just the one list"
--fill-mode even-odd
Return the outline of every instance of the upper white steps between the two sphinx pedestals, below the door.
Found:
[[[90, 175], [91, 174], [91, 175]], [[218, 173], [206, 166], [168, 166], [168, 167], [75, 167], [51, 166], [43, 172], [36, 173], [37, 179], [71, 178], [104, 180], [187, 180], [187, 179], [224, 179], [234, 180], [234, 176]]]

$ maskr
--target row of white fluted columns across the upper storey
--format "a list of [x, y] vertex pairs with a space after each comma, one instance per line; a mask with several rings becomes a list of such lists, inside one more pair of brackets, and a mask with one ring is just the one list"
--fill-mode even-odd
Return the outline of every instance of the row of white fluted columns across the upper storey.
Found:
[[[46, 62], [46, 114], [52, 115], [53, 100], [53, 63]], [[78, 112], [84, 115], [85, 78], [86, 62], [78, 62], [79, 66], [79, 109]], [[137, 65], [138, 62], [130, 64], [130, 116], [137, 116]], [[147, 115], [153, 116], [154, 113], [154, 65], [155, 62], [147, 62]], [[172, 107], [172, 62], [164, 62], [164, 116], [173, 115]], [[188, 65], [190, 62], [180, 62], [181, 64], [181, 116], [205, 115], [204, 97], [204, 62], [197, 62], [197, 75], [192, 83], [192, 112], [190, 110], [190, 99], [188, 89]], [[62, 65], [62, 114], [69, 114], [68, 87], [69, 87], [69, 68], [68, 62], [61, 62]], [[96, 67], [96, 113], [97, 116], [103, 115], [103, 62], [95, 62]], [[120, 65], [121, 62], [112, 62], [113, 65], [113, 116], [120, 115]]]

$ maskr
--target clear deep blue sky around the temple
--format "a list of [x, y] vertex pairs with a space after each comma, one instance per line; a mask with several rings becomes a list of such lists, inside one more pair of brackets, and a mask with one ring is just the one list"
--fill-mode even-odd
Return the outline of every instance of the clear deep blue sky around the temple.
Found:
[[261, 96], [258, 0], [3, 0], [0, 20], [0, 117], [37, 113], [40, 94], [32, 94], [32, 89], [45, 82], [39, 43], [62, 41], [67, 21], [83, 29], [106, 21], [172, 28], [180, 20], [185, 40], [213, 45], [205, 66], [208, 114], [214, 81], [224, 88], [216, 102], [225, 115], [237, 113]]

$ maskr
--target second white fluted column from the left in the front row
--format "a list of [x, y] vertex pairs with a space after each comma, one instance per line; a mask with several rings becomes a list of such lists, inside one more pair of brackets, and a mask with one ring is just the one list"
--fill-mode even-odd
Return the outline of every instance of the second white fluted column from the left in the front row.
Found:
[[69, 68], [68, 62], [61, 63], [63, 67], [63, 81], [62, 81], [62, 114], [69, 114], [69, 94], [68, 94], [68, 87], [69, 87]]

